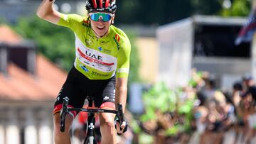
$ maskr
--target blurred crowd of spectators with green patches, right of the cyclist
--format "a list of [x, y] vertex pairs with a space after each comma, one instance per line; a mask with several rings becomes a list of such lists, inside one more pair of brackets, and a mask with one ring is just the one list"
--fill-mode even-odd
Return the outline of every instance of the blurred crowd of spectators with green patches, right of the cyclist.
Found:
[[129, 130], [119, 143], [252, 143], [256, 133], [256, 85], [250, 75], [222, 92], [208, 72], [193, 70], [187, 87], [169, 89], [162, 82], [143, 94], [144, 113], [125, 113]]

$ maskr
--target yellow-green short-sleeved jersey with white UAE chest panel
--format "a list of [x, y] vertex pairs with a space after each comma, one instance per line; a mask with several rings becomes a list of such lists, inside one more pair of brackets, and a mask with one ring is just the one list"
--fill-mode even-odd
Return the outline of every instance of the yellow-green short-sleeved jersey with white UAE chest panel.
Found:
[[114, 26], [102, 38], [97, 38], [87, 17], [61, 14], [59, 26], [75, 33], [75, 68], [88, 79], [128, 77], [131, 45], [127, 35]]

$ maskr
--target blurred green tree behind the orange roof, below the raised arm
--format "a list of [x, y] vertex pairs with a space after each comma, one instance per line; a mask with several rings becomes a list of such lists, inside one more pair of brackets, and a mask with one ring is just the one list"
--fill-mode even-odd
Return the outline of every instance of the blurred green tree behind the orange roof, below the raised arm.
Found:
[[37, 17], [21, 18], [14, 29], [23, 36], [34, 40], [38, 52], [51, 61], [69, 70], [73, 65], [75, 48], [74, 34], [68, 28], [55, 26]]

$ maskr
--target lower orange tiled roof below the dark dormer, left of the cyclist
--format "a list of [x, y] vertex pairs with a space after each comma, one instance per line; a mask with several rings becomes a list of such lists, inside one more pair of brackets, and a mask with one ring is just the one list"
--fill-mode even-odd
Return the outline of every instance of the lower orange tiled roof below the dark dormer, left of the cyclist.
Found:
[[46, 57], [36, 58], [36, 74], [29, 74], [13, 63], [8, 65], [8, 75], [0, 73], [0, 99], [49, 100], [55, 99], [65, 82], [66, 73]]

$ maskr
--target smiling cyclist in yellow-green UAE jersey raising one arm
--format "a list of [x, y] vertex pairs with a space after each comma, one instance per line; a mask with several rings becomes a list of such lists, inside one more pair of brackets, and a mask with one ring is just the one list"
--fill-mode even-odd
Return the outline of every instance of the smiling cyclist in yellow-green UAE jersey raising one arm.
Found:
[[[85, 96], [95, 99], [95, 106], [115, 109], [127, 101], [130, 43], [127, 35], [114, 23], [115, 0], [87, 0], [87, 16], [64, 14], [53, 9], [54, 0], [43, 0], [37, 15], [51, 23], [70, 28], [75, 33], [75, 62], [58, 94], [53, 109], [55, 143], [70, 143], [68, 131], [60, 132], [60, 109], [68, 96], [70, 107], [82, 107]], [[61, 42], [60, 42], [61, 43]], [[77, 113], [66, 116], [70, 128]], [[116, 133], [124, 133], [127, 123], [117, 123], [114, 114], [100, 114], [102, 144], [116, 143]], [[121, 125], [121, 126], [120, 126]], [[121, 131], [122, 130], [122, 131]]]

